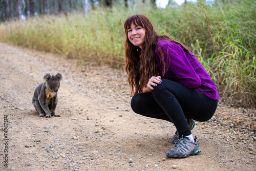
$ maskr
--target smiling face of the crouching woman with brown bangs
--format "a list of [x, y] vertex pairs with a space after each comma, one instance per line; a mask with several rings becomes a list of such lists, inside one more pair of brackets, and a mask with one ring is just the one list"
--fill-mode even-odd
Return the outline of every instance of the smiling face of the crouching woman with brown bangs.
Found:
[[144, 45], [145, 29], [141, 26], [135, 26], [131, 23], [130, 28], [127, 29], [127, 36], [134, 46], [140, 47]]

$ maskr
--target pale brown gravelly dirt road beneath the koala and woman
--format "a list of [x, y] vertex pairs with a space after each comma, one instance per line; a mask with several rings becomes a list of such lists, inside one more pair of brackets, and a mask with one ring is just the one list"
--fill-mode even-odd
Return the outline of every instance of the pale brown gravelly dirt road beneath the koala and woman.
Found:
[[[192, 131], [202, 152], [166, 158], [175, 127], [131, 110], [125, 73], [76, 64], [0, 43], [1, 169], [256, 170], [255, 109], [219, 105], [214, 118]], [[33, 90], [46, 73], [58, 72], [61, 117], [40, 118]]]

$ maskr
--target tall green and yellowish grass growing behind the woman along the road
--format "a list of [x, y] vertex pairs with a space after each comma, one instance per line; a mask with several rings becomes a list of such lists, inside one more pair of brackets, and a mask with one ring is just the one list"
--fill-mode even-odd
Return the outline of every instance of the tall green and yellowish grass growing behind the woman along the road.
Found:
[[241, 0], [213, 6], [187, 3], [166, 9], [152, 9], [141, 2], [137, 8], [129, 9], [116, 4], [111, 10], [98, 8], [87, 16], [69, 13], [6, 22], [0, 25], [0, 41], [76, 58], [82, 63], [123, 67], [124, 21], [131, 14], [142, 13], [151, 18], [159, 34], [167, 34], [193, 50], [216, 82], [221, 102], [255, 107], [253, 2]]

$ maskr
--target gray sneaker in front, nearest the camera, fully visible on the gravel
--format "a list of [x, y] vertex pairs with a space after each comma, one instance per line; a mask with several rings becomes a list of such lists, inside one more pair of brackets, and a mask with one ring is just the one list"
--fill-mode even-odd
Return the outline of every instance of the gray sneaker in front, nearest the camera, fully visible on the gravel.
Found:
[[169, 149], [166, 153], [167, 157], [187, 157], [189, 155], [196, 155], [201, 153], [199, 148], [197, 137], [194, 139], [195, 142], [189, 141], [188, 138], [180, 138], [175, 142], [172, 149]]

